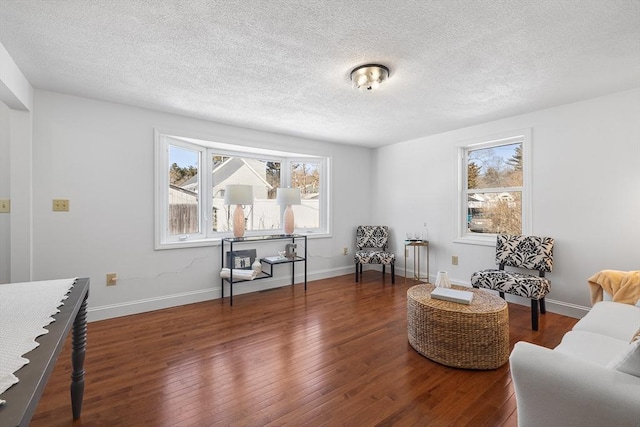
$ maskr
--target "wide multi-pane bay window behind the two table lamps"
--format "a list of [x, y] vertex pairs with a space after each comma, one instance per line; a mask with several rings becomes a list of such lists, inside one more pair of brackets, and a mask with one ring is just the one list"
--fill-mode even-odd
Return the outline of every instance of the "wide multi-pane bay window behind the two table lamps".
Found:
[[[197, 246], [228, 237], [233, 206], [225, 187], [253, 187], [247, 234], [282, 232], [280, 187], [300, 189], [295, 232], [327, 234], [328, 158], [216, 143], [156, 131], [156, 249]], [[206, 172], [206, 173], [205, 173]]]

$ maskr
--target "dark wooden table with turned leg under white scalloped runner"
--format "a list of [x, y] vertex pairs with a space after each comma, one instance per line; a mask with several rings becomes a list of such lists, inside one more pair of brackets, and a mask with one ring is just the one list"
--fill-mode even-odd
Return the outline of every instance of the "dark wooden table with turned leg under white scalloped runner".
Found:
[[60, 306], [60, 312], [53, 316], [55, 322], [45, 326], [49, 333], [38, 337], [36, 340], [40, 345], [25, 354], [29, 363], [15, 373], [20, 382], [2, 394], [2, 399], [7, 403], [0, 406], [1, 427], [29, 425], [72, 327], [71, 408], [73, 419], [80, 418], [84, 394], [88, 296], [89, 279], [77, 279], [64, 305]]

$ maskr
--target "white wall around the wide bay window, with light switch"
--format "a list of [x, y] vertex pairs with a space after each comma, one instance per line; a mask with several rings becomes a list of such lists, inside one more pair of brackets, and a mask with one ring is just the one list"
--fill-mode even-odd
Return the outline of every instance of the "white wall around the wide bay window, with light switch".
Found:
[[[34, 280], [90, 277], [91, 320], [220, 296], [219, 247], [153, 250], [154, 127], [331, 156], [333, 237], [309, 240], [309, 280], [352, 271], [342, 248], [351, 250], [355, 226], [370, 221], [372, 191], [353, 177], [371, 175], [371, 150], [36, 90]], [[69, 199], [70, 212], [52, 212], [54, 198]], [[279, 246], [255, 248], [274, 255]], [[285, 277], [237, 285], [235, 293], [287, 284], [288, 269], [277, 268]], [[118, 284], [107, 287], [111, 272]]]

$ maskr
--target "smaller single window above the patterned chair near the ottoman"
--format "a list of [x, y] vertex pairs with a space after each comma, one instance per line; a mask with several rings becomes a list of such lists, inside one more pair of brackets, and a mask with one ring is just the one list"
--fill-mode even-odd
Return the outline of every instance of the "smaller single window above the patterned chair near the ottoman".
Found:
[[530, 140], [527, 129], [459, 146], [460, 240], [530, 233]]

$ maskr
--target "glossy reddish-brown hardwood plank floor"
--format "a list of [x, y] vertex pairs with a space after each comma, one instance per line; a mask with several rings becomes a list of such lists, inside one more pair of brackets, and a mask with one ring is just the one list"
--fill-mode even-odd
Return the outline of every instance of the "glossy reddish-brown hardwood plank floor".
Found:
[[[88, 327], [82, 417], [70, 341], [33, 426], [516, 426], [508, 363], [454, 369], [407, 341], [406, 291], [377, 271]], [[576, 319], [509, 304], [511, 346], [560, 342]]]

